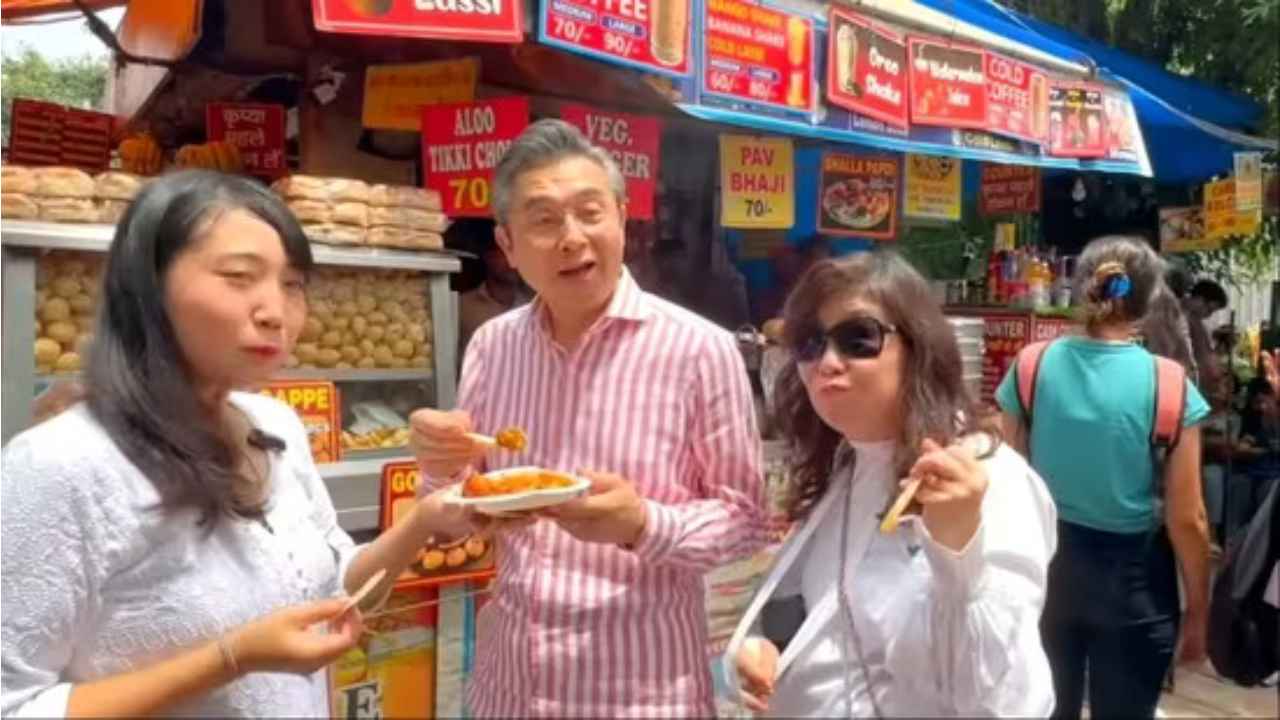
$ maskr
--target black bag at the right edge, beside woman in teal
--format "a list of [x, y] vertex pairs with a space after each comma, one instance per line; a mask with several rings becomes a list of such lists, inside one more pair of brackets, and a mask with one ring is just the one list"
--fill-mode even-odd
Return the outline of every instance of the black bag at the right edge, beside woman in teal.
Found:
[[1280, 610], [1262, 600], [1276, 568], [1274, 482], [1248, 528], [1228, 544], [1210, 601], [1208, 656], [1219, 674], [1252, 687], [1280, 669]]

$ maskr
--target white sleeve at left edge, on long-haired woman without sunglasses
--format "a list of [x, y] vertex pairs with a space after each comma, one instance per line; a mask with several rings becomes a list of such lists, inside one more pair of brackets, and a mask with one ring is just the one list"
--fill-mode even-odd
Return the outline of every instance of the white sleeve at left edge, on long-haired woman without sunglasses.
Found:
[[93, 623], [106, 577], [104, 503], [93, 492], [101, 471], [68, 462], [55, 433], [19, 436], [3, 456], [0, 480], [0, 715], [64, 717], [72, 684], [65, 670], [76, 638]]

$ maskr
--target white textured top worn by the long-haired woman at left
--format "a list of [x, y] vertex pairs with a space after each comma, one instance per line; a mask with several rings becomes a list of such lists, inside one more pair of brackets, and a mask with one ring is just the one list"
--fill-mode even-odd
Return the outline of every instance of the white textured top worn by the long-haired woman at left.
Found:
[[[84, 405], [4, 450], [0, 715], [63, 717], [74, 683], [136, 670], [274, 610], [332, 597], [356, 547], [285, 405], [232, 402], [287, 443], [265, 523], [151, 510], [159, 496]], [[168, 715], [328, 716], [325, 673], [250, 674]]]

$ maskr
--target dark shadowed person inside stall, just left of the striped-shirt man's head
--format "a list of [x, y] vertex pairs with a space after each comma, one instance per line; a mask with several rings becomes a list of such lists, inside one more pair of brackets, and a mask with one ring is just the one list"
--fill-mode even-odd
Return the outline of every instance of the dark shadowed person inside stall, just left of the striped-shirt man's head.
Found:
[[458, 288], [458, 357], [480, 325], [507, 310], [524, 305], [532, 293], [520, 279], [520, 274], [507, 263], [507, 256], [493, 238], [493, 220], [465, 219], [449, 225], [447, 245], [466, 250], [480, 258], [468, 263], [479, 275], [470, 288]]

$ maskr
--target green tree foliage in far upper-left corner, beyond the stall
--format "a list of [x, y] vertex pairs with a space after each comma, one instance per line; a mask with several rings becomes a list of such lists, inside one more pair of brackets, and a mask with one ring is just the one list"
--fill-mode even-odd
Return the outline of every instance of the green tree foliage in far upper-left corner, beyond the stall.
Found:
[[110, 72], [106, 58], [82, 55], [50, 60], [31, 47], [5, 55], [0, 64], [0, 102], [4, 105], [3, 133], [9, 142], [9, 115], [14, 97], [46, 100], [76, 108], [101, 110]]

